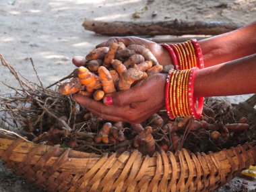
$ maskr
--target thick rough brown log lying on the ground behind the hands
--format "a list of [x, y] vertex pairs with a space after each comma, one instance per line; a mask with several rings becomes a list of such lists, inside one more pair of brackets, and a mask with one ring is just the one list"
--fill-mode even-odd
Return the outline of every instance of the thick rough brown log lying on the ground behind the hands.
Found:
[[205, 34], [216, 35], [230, 32], [242, 25], [232, 22], [187, 22], [184, 20], [168, 20], [158, 22], [104, 22], [86, 19], [83, 24], [86, 30], [110, 36], [127, 35], [183, 35]]

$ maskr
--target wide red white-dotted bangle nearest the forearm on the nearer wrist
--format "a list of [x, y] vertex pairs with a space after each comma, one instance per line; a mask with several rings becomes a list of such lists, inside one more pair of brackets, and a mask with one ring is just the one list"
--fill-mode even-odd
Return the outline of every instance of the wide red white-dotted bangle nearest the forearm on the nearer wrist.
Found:
[[189, 83], [188, 83], [188, 93], [187, 93], [187, 98], [189, 100], [189, 113], [195, 119], [199, 119], [199, 117], [201, 117], [201, 113], [203, 110], [203, 97], [198, 98], [197, 109], [195, 109], [197, 98], [194, 97], [194, 82], [195, 82], [195, 73], [198, 70], [199, 70], [198, 67], [193, 67], [189, 71]]

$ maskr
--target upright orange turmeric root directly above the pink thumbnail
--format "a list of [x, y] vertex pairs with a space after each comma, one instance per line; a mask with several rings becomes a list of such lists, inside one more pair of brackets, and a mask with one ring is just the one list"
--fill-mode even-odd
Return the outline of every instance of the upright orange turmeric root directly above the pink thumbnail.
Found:
[[106, 69], [106, 67], [100, 66], [98, 68], [98, 75], [100, 78], [100, 82], [102, 84], [103, 91], [106, 94], [116, 92], [113, 78], [112, 78], [110, 72], [108, 71], [108, 69]]

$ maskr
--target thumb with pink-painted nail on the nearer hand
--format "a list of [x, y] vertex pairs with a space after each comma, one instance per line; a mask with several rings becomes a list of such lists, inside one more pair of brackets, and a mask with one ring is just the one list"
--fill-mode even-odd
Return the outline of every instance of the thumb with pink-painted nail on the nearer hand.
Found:
[[136, 92], [133, 92], [132, 88], [122, 92], [114, 92], [112, 94], [107, 94], [103, 98], [103, 103], [106, 105], [113, 106], [125, 106], [135, 102], [143, 102], [146, 98], [144, 96], [139, 96]]

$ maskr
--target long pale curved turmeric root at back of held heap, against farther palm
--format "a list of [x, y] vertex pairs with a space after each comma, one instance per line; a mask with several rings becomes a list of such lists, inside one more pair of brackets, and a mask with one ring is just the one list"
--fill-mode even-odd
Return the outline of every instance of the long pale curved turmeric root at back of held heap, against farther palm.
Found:
[[135, 53], [141, 54], [145, 58], [145, 60], [152, 61], [153, 65], [159, 65], [158, 61], [156, 60], [156, 57], [145, 46], [139, 44], [131, 44], [127, 46], [127, 49], [134, 50]]

